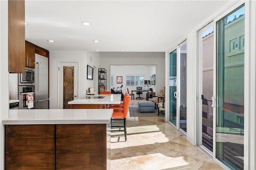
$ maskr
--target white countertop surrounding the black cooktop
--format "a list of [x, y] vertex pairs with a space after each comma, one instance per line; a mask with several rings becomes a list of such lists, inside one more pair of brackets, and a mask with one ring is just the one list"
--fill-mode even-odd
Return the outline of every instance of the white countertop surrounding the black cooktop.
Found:
[[[84, 97], [89, 96], [105, 96], [103, 99], [84, 99]], [[83, 98], [72, 100], [68, 104], [120, 104], [121, 94], [95, 94], [86, 95]]]

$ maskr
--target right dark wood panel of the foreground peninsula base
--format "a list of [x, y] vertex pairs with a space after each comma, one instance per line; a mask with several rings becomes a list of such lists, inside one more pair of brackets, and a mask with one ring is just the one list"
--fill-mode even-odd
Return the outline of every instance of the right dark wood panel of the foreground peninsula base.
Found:
[[56, 125], [56, 169], [106, 169], [106, 124]]

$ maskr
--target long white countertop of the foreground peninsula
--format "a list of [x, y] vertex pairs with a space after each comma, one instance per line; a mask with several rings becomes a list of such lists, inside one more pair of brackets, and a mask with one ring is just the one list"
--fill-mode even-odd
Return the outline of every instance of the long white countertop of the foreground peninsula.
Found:
[[13, 109], [4, 125], [108, 124], [113, 109]]

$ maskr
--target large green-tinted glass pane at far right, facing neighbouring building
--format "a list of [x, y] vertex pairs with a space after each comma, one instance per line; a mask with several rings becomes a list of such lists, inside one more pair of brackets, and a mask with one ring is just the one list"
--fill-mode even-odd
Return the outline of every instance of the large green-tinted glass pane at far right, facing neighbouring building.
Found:
[[216, 22], [216, 158], [244, 168], [244, 6]]

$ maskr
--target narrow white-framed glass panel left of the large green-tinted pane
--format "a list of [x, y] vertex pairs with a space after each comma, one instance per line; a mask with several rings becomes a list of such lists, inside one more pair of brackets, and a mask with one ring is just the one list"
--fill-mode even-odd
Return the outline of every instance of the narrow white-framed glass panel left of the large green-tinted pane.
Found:
[[214, 25], [198, 31], [198, 145], [212, 155], [213, 151], [213, 68]]

